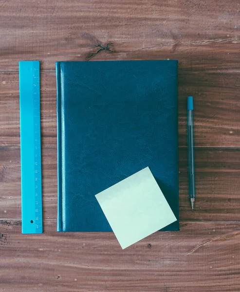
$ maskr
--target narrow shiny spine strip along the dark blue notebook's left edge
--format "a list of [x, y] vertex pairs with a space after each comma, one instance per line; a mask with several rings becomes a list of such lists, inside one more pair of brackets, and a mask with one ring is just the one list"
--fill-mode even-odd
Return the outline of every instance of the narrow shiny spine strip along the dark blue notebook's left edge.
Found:
[[57, 115], [57, 231], [62, 228], [62, 117], [61, 117], [61, 68], [56, 62], [56, 115]]

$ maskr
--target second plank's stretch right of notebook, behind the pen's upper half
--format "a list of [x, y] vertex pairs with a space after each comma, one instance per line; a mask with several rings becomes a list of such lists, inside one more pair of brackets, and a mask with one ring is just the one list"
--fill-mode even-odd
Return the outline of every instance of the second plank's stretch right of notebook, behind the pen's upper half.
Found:
[[197, 147], [240, 146], [240, 74], [179, 74], [179, 146], [186, 146], [186, 96], [194, 96]]

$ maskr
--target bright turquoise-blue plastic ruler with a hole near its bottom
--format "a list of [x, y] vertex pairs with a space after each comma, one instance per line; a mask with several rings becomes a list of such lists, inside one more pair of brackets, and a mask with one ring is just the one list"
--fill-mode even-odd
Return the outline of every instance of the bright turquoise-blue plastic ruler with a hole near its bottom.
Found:
[[39, 61], [19, 62], [22, 233], [42, 233]]

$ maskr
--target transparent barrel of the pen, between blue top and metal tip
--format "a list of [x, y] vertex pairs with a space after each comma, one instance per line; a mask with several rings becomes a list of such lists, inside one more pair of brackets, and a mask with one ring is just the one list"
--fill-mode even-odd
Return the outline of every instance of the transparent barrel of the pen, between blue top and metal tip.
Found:
[[187, 147], [188, 147], [188, 177], [189, 197], [195, 198], [195, 166], [194, 166], [194, 125], [193, 110], [187, 110]]

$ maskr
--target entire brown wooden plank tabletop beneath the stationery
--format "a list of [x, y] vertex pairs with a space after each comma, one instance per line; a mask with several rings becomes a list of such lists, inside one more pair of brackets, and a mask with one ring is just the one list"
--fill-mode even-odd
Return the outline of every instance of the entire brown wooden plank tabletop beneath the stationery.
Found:
[[[55, 61], [167, 58], [179, 60], [181, 231], [124, 251], [112, 233], [57, 233]], [[41, 61], [42, 235], [21, 234], [19, 60]], [[0, 0], [0, 291], [240, 291], [239, 0]]]

